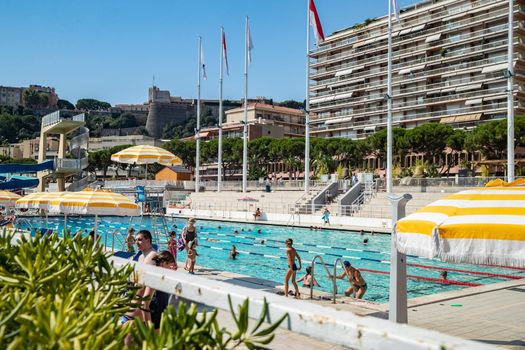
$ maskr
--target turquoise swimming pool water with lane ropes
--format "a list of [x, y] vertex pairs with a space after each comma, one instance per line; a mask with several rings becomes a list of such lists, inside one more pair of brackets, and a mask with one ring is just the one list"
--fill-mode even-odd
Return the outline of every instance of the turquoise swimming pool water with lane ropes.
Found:
[[[93, 217], [70, 217], [68, 227], [72, 231], [90, 230], [94, 223]], [[111, 233], [117, 232], [120, 239], [115, 240], [115, 248], [125, 250], [124, 238], [128, 227], [133, 226], [135, 230], [149, 229], [160, 224], [149, 217], [144, 218], [122, 218], [101, 217], [99, 219], [98, 233], [102, 236], [102, 242], [111, 246]], [[30, 218], [31, 226], [45, 227], [45, 220], [41, 218]], [[166, 218], [169, 229], [177, 226], [179, 233], [186, 224], [185, 219]], [[62, 230], [64, 219], [61, 217], [49, 218], [49, 227]], [[27, 224], [22, 225], [28, 228]], [[390, 236], [383, 234], [360, 234], [350, 231], [338, 230], [310, 230], [307, 228], [291, 228], [283, 226], [269, 226], [257, 224], [243, 224], [232, 222], [218, 222], [199, 220], [197, 222], [199, 245], [197, 251], [197, 265], [210, 267], [218, 270], [235, 272], [243, 275], [263, 278], [283, 283], [284, 274], [287, 270], [285, 259], [284, 240], [292, 238], [294, 247], [303, 260], [303, 270], [298, 272], [298, 278], [304, 274], [305, 266], [308, 266], [315, 255], [321, 255], [329, 264], [332, 271], [336, 258], [342, 257], [349, 260], [353, 266], [361, 270], [367, 284], [368, 290], [365, 299], [376, 302], [388, 301], [388, 284], [390, 269]], [[159, 227], [160, 229], [160, 227]], [[234, 231], [238, 233], [235, 234]], [[257, 233], [261, 230], [261, 233]], [[368, 244], [363, 240], [368, 238]], [[264, 240], [264, 244], [261, 244]], [[160, 247], [165, 249], [165, 236], [160, 238]], [[237, 260], [228, 259], [228, 252], [235, 244], [240, 252]], [[179, 252], [179, 266], [185, 261], [185, 253]], [[467, 282], [474, 284], [490, 284], [508, 281], [512, 277], [525, 278], [525, 271], [495, 266], [477, 266], [467, 264], [449, 264], [433, 259], [418, 257], [407, 258], [408, 296], [409, 298], [430, 295], [455, 289], [467, 288], [465, 285], [444, 284], [439, 281], [427, 280], [439, 279], [440, 271], [449, 269], [448, 280]], [[454, 269], [457, 271], [451, 271]], [[316, 279], [321, 289], [327, 292], [332, 290], [331, 280], [327, 278], [326, 272], [321, 265], [316, 265]], [[342, 270], [339, 268], [338, 273]], [[348, 288], [348, 281], [338, 281], [338, 291], [342, 293]]]

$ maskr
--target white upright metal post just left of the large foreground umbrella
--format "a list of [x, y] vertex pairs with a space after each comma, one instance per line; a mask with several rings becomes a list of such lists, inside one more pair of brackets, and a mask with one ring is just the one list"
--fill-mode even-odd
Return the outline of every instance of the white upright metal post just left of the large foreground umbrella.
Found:
[[407, 262], [406, 255], [397, 251], [395, 245], [395, 224], [405, 217], [406, 205], [412, 196], [388, 195], [392, 203], [392, 233], [390, 254], [390, 288], [388, 300], [388, 320], [397, 323], [407, 323]]

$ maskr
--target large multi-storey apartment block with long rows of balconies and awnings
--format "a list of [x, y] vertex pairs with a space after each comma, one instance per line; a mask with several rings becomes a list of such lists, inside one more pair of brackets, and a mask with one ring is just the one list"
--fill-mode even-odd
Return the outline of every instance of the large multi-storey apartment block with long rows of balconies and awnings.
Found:
[[[525, 2], [514, 2], [515, 113], [525, 112]], [[506, 117], [506, 0], [431, 0], [393, 22], [394, 127], [472, 127]], [[333, 33], [311, 54], [312, 136], [386, 127], [388, 17]]]

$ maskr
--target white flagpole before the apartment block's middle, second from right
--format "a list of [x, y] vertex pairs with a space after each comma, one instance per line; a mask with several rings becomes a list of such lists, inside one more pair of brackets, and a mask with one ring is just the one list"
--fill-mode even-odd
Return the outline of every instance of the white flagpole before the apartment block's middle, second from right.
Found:
[[388, 0], [386, 192], [392, 193], [392, 0]]

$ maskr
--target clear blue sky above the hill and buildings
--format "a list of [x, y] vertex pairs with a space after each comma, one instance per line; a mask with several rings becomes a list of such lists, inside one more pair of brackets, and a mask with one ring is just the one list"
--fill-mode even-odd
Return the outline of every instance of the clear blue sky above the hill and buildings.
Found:
[[[398, 0], [401, 8], [414, 0]], [[61, 98], [142, 103], [156, 85], [196, 97], [197, 37], [218, 98], [220, 26], [230, 75], [224, 97], [244, 95], [244, 17], [254, 49], [249, 96], [304, 99], [306, 0], [2, 0], [0, 85], [54, 86]], [[317, 0], [325, 35], [387, 13], [388, 0]]]

